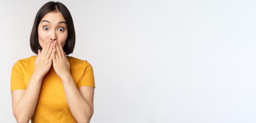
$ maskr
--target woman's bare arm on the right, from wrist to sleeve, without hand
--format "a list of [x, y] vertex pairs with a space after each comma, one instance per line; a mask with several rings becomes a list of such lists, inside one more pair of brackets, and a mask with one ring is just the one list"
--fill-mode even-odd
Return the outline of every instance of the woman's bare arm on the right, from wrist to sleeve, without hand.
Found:
[[[62, 79], [62, 83], [69, 108], [76, 121], [78, 123], [89, 123], [93, 115], [94, 88], [88, 87], [88, 89], [83, 86], [78, 90], [71, 75]], [[80, 91], [83, 92], [82, 95]], [[87, 96], [89, 93], [90, 96]]]

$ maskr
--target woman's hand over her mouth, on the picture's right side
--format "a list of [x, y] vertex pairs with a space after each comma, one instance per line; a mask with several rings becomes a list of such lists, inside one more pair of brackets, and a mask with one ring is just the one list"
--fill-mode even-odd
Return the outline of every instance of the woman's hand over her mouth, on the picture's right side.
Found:
[[70, 64], [63, 51], [61, 42], [53, 41], [53, 68], [60, 79], [70, 75]]

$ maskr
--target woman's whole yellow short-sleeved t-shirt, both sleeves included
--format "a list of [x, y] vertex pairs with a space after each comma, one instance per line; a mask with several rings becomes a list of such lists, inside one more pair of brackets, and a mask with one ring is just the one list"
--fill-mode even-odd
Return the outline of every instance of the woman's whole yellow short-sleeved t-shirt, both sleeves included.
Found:
[[[31, 56], [18, 60], [12, 67], [11, 91], [27, 89], [30, 78], [34, 73], [35, 59]], [[70, 73], [77, 89], [81, 86], [93, 86], [94, 75], [91, 64], [87, 60], [67, 56], [70, 63]], [[63, 84], [51, 67], [43, 77], [41, 91], [31, 123], [77, 123], [68, 106]]]

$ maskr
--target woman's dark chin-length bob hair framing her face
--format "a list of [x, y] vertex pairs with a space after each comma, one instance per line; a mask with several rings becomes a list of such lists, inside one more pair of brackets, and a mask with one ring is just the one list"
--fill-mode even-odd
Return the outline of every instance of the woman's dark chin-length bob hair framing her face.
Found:
[[71, 14], [65, 5], [63, 5], [60, 2], [53, 2], [53, 1], [47, 2], [45, 5], [43, 5], [36, 14], [34, 25], [32, 27], [32, 31], [30, 34], [31, 50], [35, 54], [38, 54], [38, 50], [42, 51], [42, 47], [40, 46], [39, 39], [38, 39], [38, 26], [43, 16], [48, 12], [62, 13], [66, 21], [66, 24], [68, 26], [68, 37], [63, 47], [63, 51], [66, 52], [66, 55], [72, 53], [74, 51], [76, 37], [75, 37], [75, 28], [74, 28]]

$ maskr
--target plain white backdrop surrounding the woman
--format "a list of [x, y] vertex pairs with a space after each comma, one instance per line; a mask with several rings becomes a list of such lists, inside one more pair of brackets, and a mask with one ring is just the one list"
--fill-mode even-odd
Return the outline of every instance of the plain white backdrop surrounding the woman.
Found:
[[[48, 1], [0, 2], [0, 122]], [[255, 0], [60, 0], [95, 77], [91, 123], [255, 123]]]

